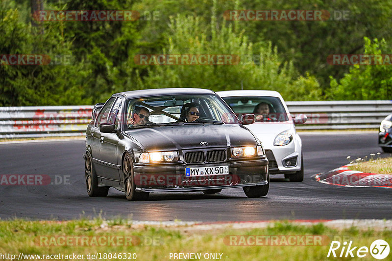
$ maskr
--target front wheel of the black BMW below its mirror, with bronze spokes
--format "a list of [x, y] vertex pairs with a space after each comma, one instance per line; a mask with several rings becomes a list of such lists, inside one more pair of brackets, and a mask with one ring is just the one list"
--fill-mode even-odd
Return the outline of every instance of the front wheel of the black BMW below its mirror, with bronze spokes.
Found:
[[149, 193], [136, 192], [132, 158], [129, 153], [123, 159], [124, 190], [127, 200], [148, 200]]

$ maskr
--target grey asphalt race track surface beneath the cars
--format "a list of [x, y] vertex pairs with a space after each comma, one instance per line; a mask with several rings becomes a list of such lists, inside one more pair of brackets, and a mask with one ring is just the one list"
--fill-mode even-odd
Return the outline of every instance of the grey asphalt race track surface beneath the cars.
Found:
[[347, 164], [348, 155], [355, 159], [382, 152], [376, 133], [300, 135], [304, 181], [291, 183], [272, 176], [270, 192], [262, 198], [247, 198], [241, 188], [224, 189], [215, 195], [151, 193], [148, 201], [127, 201], [115, 189], [110, 189], [107, 197], [89, 197], [84, 182], [84, 140], [0, 144], [1, 175], [56, 175], [56, 182], [63, 183], [0, 185], [0, 218], [62, 220], [98, 215], [161, 221], [392, 218], [391, 189], [331, 186], [311, 178]]

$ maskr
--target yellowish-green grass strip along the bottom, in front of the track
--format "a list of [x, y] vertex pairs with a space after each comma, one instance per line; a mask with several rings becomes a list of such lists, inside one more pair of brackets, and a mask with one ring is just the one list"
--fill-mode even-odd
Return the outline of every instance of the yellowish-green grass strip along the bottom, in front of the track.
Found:
[[[392, 231], [359, 230], [351, 227], [343, 230], [331, 229], [322, 223], [311, 226], [296, 225], [291, 222], [271, 223], [267, 228], [232, 229], [217, 228], [201, 230], [197, 226], [162, 227], [133, 225], [130, 221], [117, 218], [115, 221], [80, 219], [71, 221], [28, 221], [14, 219], [0, 221], [0, 253], [24, 254], [84, 254], [89, 253], [136, 253], [137, 260], [170, 260], [170, 253], [221, 253], [226, 261], [259, 260], [328, 260], [326, 257], [330, 240], [353, 240], [355, 245], [370, 246], [375, 239], [384, 239], [391, 245]], [[224, 241], [230, 235], [237, 236], [300, 236], [322, 235], [328, 241], [316, 246], [233, 246]], [[134, 246], [41, 246], [42, 236], [133, 236], [136, 239], [155, 240], [155, 245]], [[148, 240], [147, 240], [148, 239]], [[139, 241], [132, 241], [139, 242]], [[342, 241], [343, 242], [343, 241]], [[165, 258], [165, 256], [167, 258]], [[390, 255], [391, 256], [391, 255]], [[102, 256], [103, 257], [103, 256]], [[227, 257], [227, 258], [226, 258]], [[28, 259], [31, 261], [39, 259]], [[66, 260], [66, 259], [56, 259]], [[83, 259], [86, 260], [86, 259]], [[91, 260], [91, 259], [90, 259]], [[98, 259], [99, 260], [99, 259]], [[102, 259], [110, 260], [110, 259]], [[112, 258], [111, 260], [121, 260]], [[171, 259], [173, 260], [173, 259]], [[345, 260], [350, 260], [345, 259]], [[355, 258], [352, 260], [356, 260]], [[369, 257], [361, 260], [372, 260]], [[386, 259], [388, 260], [388, 259]]]

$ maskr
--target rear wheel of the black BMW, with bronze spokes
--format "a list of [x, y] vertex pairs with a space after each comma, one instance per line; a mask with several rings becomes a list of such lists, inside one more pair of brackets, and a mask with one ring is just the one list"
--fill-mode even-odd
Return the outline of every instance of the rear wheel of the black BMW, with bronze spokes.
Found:
[[109, 187], [98, 187], [98, 178], [94, 171], [93, 159], [90, 153], [86, 153], [86, 156], [84, 156], [84, 172], [87, 194], [89, 196], [107, 196]]

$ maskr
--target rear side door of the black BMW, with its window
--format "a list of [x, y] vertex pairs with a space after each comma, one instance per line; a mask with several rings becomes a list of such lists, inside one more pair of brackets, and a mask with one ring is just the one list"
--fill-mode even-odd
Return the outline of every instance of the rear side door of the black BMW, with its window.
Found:
[[94, 169], [98, 176], [105, 175], [105, 167], [101, 160], [100, 146], [101, 146], [101, 132], [99, 131], [99, 124], [107, 122], [110, 110], [113, 107], [116, 97], [111, 97], [100, 110], [97, 119], [94, 123], [94, 127], [91, 128], [90, 139], [91, 139], [91, 151], [93, 156]]

